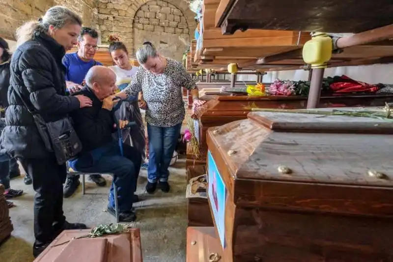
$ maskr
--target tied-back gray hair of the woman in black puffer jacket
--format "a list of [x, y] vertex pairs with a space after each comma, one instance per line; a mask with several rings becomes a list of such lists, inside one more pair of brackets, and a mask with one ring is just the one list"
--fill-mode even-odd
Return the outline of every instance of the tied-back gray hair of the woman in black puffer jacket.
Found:
[[17, 46], [31, 40], [34, 35], [41, 32], [48, 32], [49, 26], [59, 29], [67, 24], [82, 26], [82, 18], [67, 7], [54, 6], [46, 11], [45, 15], [38, 21], [29, 21], [17, 29]]

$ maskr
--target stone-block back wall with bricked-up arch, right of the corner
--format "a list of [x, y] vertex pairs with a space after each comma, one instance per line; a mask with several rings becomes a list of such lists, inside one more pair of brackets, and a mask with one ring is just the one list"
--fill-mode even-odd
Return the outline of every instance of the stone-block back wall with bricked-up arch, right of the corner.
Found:
[[163, 55], [181, 60], [196, 28], [195, 14], [186, 1], [99, 1], [98, 24], [103, 43], [108, 35], [117, 34], [134, 56], [142, 42], [151, 41]]

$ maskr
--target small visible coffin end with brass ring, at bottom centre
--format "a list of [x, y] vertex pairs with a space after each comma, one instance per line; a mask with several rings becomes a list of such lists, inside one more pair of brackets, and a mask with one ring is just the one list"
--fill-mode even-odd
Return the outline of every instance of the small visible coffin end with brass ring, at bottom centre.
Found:
[[214, 256], [221, 258], [223, 249], [214, 227], [189, 227], [187, 228], [187, 253], [186, 262], [209, 262]]

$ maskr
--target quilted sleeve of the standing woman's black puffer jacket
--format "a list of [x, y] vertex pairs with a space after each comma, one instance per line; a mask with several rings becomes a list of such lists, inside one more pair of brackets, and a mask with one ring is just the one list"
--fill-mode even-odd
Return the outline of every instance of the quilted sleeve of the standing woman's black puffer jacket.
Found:
[[30, 101], [41, 113], [70, 113], [80, 107], [78, 98], [60, 95], [54, 86], [52, 63], [44, 51], [24, 52], [20, 58], [22, 80]]

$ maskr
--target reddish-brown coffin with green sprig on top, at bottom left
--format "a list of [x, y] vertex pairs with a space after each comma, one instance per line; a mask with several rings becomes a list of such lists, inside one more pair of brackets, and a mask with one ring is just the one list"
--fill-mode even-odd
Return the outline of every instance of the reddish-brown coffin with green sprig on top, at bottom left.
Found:
[[63, 231], [34, 262], [142, 262], [139, 229], [103, 237], [73, 239], [89, 232]]

